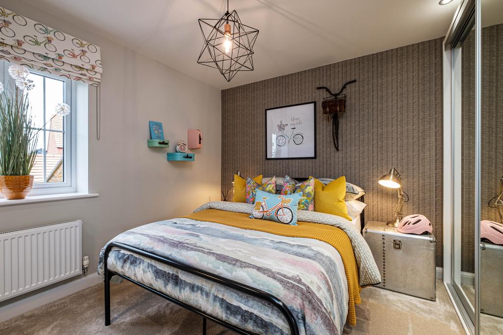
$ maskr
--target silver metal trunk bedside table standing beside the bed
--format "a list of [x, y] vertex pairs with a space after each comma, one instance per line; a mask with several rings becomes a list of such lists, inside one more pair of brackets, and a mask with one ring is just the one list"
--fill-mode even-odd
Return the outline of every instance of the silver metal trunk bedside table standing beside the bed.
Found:
[[382, 282], [374, 286], [436, 300], [437, 241], [432, 234], [402, 234], [386, 222], [370, 221], [363, 237], [381, 272]]

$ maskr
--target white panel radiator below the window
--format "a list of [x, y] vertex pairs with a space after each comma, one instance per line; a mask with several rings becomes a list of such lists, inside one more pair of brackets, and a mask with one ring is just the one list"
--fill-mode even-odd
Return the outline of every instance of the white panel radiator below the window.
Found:
[[79, 275], [82, 221], [0, 233], [0, 301]]

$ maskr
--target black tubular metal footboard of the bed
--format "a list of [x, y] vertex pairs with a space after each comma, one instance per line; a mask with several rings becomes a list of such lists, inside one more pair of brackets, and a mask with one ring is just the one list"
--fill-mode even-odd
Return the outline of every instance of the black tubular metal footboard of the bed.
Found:
[[152, 292], [152, 293], [155, 293], [161, 297], [163, 297], [164, 299], [167, 299], [171, 302], [174, 302], [184, 308], [187, 308], [199, 315], [202, 315], [203, 316], [203, 333], [206, 333], [206, 319], [210, 319], [210, 320], [213, 320], [229, 329], [232, 329], [238, 333], [241, 333], [241, 334], [250, 334], [250, 332], [248, 330], [245, 330], [245, 329], [242, 329], [238, 326], [235, 326], [225, 320], [221, 320], [219, 318], [216, 318], [210, 314], [208, 314], [207, 312], [199, 309], [199, 308], [196, 308], [196, 307], [193, 307], [189, 304], [186, 304], [185, 302], [183, 301], [180, 301], [178, 299], [175, 299], [169, 295], [166, 295], [162, 292], [159, 292], [151, 287], [148, 287], [140, 282], [137, 282], [135, 281], [134, 279], [131, 279], [125, 275], [122, 275], [122, 274], [119, 274], [119, 273], [115, 273], [113, 271], [110, 271], [108, 270], [108, 266], [107, 266], [107, 261], [108, 261], [108, 254], [110, 253], [110, 250], [112, 250], [112, 248], [119, 248], [119, 249], [122, 249], [122, 250], [126, 250], [130, 253], [133, 253], [133, 254], [137, 254], [137, 255], [140, 255], [142, 257], [145, 257], [145, 258], [148, 258], [148, 259], [151, 259], [151, 260], [154, 260], [154, 261], [157, 261], [157, 262], [160, 262], [162, 264], [165, 264], [165, 265], [169, 265], [171, 267], [174, 267], [174, 268], [177, 268], [179, 270], [182, 270], [182, 271], [186, 271], [186, 272], [189, 272], [191, 274], [194, 274], [196, 276], [199, 276], [201, 278], [204, 278], [204, 279], [207, 279], [207, 280], [211, 280], [215, 283], [218, 283], [218, 284], [221, 284], [221, 285], [224, 285], [224, 286], [227, 286], [227, 287], [230, 287], [230, 288], [233, 288], [235, 290], [238, 290], [238, 291], [241, 291], [243, 293], [246, 293], [246, 294], [249, 294], [249, 295], [252, 295], [252, 296], [255, 296], [259, 299], [263, 299], [263, 300], [266, 300], [266, 301], [269, 301], [271, 304], [273, 304], [273, 306], [275, 308], [277, 308], [282, 314], [283, 316], [285, 317], [285, 319], [287, 320], [288, 322], [288, 325], [290, 327], [290, 333], [292, 335], [298, 335], [299, 334], [299, 329], [298, 329], [298, 326], [297, 326], [297, 322], [295, 321], [293, 315], [292, 315], [292, 312], [290, 311], [290, 309], [288, 309], [288, 307], [283, 303], [283, 301], [281, 301], [280, 299], [278, 299], [277, 297], [275, 297], [274, 295], [272, 294], [269, 294], [267, 292], [264, 292], [262, 290], [259, 290], [259, 289], [256, 289], [256, 288], [253, 288], [253, 287], [250, 287], [250, 286], [247, 286], [247, 285], [244, 285], [244, 284], [241, 284], [241, 283], [238, 283], [236, 281], [233, 281], [233, 280], [230, 280], [230, 279], [226, 279], [226, 278], [223, 278], [221, 276], [218, 276], [218, 275], [215, 275], [215, 274], [212, 274], [212, 273], [209, 273], [207, 271], [203, 271], [203, 270], [199, 270], [199, 269], [196, 269], [192, 266], [188, 266], [188, 265], [185, 265], [185, 264], [182, 264], [178, 261], [175, 261], [175, 260], [172, 260], [172, 259], [169, 259], [169, 258], [165, 258], [163, 256], [159, 256], [159, 255], [156, 255], [156, 254], [152, 254], [152, 253], [149, 253], [147, 251], [144, 251], [144, 250], [141, 250], [141, 249], [138, 249], [138, 248], [135, 248], [135, 247], [131, 247], [131, 246], [128, 246], [126, 244], [122, 244], [122, 243], [116, 243], [116, 242], [111, 242], [107, 245], [107, 248], [105, 249], [105, 254], [104, 254], [104, 260], [103, 260], [103, 263], [104, 263], [104, 275], [105, 275], [105, 325], [110, 325], [110, 279], [112, 278], [113, 275], [117, 275], [117, 276], [120, 276], [126, 280], [129, 280], [130, 282], [132, 283], [135, 283], [136, 285], [140, 286], [140, 287], [143, 287], [144, 289]]

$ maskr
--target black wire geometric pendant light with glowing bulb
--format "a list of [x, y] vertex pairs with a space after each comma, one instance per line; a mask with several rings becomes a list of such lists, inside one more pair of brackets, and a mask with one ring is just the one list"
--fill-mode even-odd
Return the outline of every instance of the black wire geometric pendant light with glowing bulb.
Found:
[[220, 19], [199, 19], [204, 45], [197, 62], [218, 69], [230, 81], [238, 71], [253, 71], [253, 46], [259, 35], [255, 28], [243, 25], [236, 11]]

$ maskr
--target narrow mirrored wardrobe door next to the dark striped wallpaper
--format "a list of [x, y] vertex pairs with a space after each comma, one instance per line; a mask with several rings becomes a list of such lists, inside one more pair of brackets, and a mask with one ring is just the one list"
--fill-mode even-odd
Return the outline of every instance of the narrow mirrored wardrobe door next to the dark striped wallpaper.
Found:
[[[475, 323], [475, 25], [466, 19], [452, 49], [453, 277], [463, 317]], [[469, 319], [469, 320], [468, 320]]]

